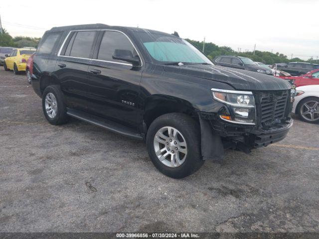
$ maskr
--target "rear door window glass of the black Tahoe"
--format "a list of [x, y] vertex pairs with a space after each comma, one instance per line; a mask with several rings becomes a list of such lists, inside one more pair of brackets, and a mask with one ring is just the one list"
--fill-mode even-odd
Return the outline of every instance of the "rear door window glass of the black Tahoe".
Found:
[[74, 37], [74, 41], [69, 42], [69, 44], [72, 44], [70, 56], [90, 58], [95, 35], [96, 31], [78, 31]]

